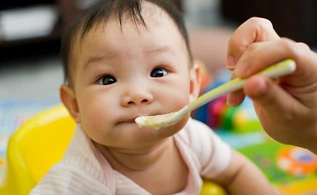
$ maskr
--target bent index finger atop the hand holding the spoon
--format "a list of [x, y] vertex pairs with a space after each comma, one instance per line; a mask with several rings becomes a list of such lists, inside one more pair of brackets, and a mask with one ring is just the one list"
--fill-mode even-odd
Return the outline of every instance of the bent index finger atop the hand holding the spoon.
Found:
[[257, 17], [250, 18], [233, 33], [229, 40], [227, 68], [234, 69], [234, 65], [250, 44], [278, 39], [280, 37], [274, 31], [269, 20]]

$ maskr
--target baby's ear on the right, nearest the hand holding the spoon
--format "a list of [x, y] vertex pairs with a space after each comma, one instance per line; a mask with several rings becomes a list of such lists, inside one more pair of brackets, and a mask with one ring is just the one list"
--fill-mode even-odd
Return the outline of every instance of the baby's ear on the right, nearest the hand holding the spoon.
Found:
[[190, 101], [197, 99], [201, 89], [201, 66], [197, 63], [194, 63], [193, 67], [190, 70]]

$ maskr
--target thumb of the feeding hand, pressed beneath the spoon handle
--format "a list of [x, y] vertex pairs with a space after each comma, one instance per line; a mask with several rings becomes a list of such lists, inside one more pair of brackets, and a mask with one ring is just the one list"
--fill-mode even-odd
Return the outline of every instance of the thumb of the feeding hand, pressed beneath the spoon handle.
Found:
[[255, 103], [256, 111], [260, 110], [260, 113], [257, 112], [260, 120], [265, 117], [267, 122], [286, 122], [304, 109], [304, 106], [287, 91], [263, 75], [255, 75], [248, 79], [243, 91]]

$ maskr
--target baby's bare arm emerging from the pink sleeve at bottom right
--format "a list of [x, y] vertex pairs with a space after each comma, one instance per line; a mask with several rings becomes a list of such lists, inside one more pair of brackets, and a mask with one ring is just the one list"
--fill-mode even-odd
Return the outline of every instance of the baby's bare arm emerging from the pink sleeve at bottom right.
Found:
[[227, 190], [230, 194], [279, 194], [264, 174], [252, 163], [245, 163], [238, 170]]

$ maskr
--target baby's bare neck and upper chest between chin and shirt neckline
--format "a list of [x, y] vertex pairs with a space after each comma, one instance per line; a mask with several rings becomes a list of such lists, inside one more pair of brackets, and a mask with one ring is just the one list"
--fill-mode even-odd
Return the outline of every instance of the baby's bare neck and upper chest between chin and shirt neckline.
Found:
[[186, 187], [188, 168], [173, 137], [144, 150], [118, 151], [101, 146], [100, 151], [113, 169], [150, 193], [174, 194]]

